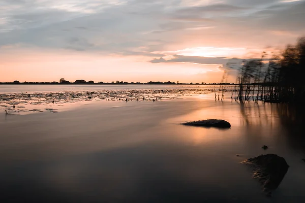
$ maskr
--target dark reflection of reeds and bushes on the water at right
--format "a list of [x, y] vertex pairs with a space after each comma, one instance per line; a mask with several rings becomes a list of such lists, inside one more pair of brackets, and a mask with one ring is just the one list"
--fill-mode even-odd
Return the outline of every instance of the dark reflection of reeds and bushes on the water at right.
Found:
[[[240, 115], [247, 132], [255, 128], [257, 133], [284, 136], [287, 144], [295, 150], [305, 152], [305, 108], [293, 104], [246, 103], [239, 104]], [[265, 131], [262, 131], [261, 128]], [[256, 137], [257, 138], [257, 137]]]

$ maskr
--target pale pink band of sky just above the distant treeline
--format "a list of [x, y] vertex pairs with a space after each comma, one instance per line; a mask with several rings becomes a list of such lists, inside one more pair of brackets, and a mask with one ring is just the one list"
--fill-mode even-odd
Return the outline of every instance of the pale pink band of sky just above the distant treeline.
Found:
[[[16, 57], [15, 54], [19, 56]], [[18, 51], [0, 56], [1, 81], [69, 81], [84, 79], [95, 82], [174, 81], [214, 82], [223, 71], [218, 64], [150, 63], [146, 56], [100, 56], [67, 50]], [[4, 68], [3, 68], [4, 67]], [[162, 73], [162, 74], [160, 74]]]

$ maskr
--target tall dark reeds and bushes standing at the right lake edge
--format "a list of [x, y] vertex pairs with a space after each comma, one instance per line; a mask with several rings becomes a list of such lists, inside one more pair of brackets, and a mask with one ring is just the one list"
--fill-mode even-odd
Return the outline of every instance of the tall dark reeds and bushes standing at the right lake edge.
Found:
[[[264, 63], [261, 59], [243, 61], [238, 76], [238, 95], [240, 101], [262, 100], [271, 103], [302, 101], [305, 92], [303, 69], [305, 69], [305, 38], [295, 46], [288, 45], [281, 56], [272, 56]], [[233, 98], [233, 93], [231, 94]]]

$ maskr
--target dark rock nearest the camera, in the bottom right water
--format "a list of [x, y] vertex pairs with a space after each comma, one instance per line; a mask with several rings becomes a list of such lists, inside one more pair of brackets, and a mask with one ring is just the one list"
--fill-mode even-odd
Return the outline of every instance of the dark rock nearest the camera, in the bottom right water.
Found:
[[266, 192], [278, 188], [289, 167], [285, 159], [276, 154], [260, 155], [243, 163], [254, 167], [253, 178], [259, 179]]

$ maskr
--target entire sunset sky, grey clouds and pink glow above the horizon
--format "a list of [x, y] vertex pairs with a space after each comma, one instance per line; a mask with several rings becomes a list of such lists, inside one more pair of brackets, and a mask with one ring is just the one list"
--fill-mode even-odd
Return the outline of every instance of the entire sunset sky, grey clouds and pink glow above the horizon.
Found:
[[304, 11], [304, 0], [1, 0], [0, 81], [217, 83], [305, 36]]

